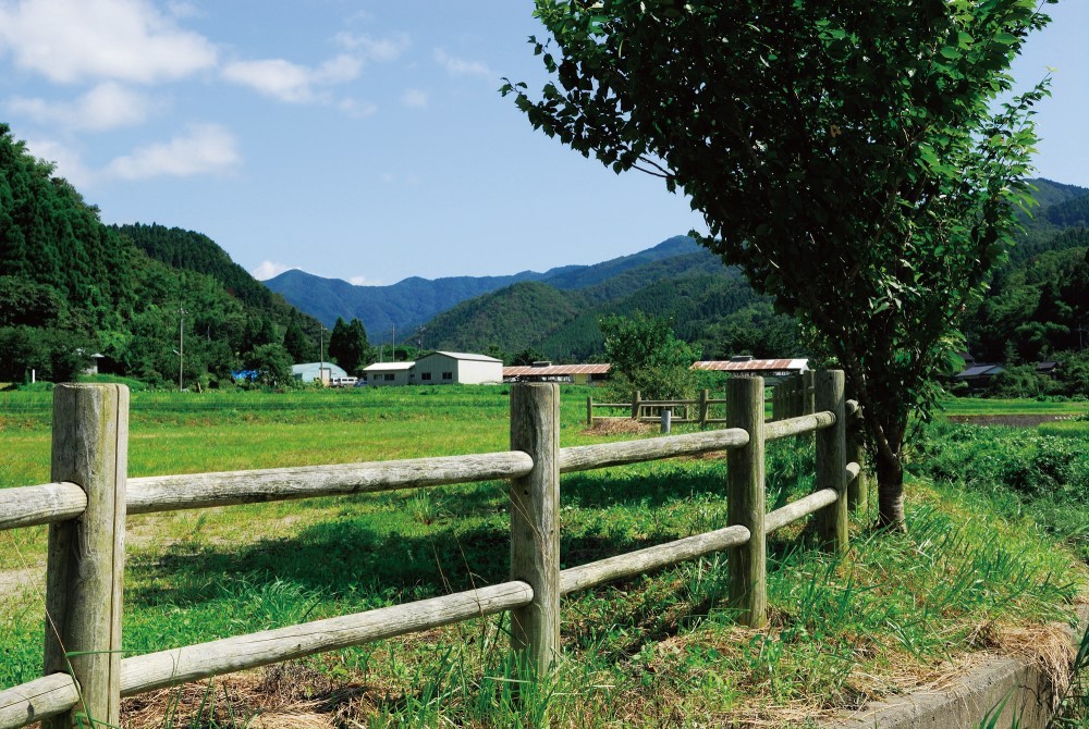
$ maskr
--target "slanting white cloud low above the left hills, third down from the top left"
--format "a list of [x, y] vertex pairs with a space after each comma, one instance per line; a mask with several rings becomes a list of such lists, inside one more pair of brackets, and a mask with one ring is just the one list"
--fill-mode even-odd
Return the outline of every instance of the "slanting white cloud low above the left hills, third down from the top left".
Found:
[[218, 124], [199, 124], [185, 136], [149, 145], [107, 165], [107, 173], [122, 180], [188, 177], [229, 172], [241, 162], [235, 139]]

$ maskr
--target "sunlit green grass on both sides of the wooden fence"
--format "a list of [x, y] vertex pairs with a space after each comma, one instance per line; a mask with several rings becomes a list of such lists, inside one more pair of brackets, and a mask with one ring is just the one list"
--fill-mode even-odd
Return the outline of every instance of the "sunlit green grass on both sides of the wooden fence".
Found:
[[[49, 398], [17, 395], [0, 409], [0, 487], [49, 475]], [[632, 437], [586, 432], [585, 396], [564, 391], [562, 445]], [[502, 450], [507, 405], [505, 387], [136, 393], [130, 473]], [[773, 508], [811, 489], [812, 450], [770, 450]], [[725, 526], [724, 471], [723, 458], [709, 457], [564, 477], [564, 566]], [[492, 482], [133, 517], [124, 647], [144, 653], [502, 581], [506, 505], [504, 484]], [[965, 652], [1041, 642], [1033, 626], [1069, 615], [1085, 570], [1035, 521], [1002, 518], [979, 490], [927, 481], [913, 484], [908, 509], [903, 535], [869, 533], [857, 519], [841, 559], [810, 549], [800, 527], [776, 535], [768, 630], [736, 625], [725, 560], [705, 559], [565, 600], [559, 670], [533, 689], [507, 660], [503, 620], [477, 620], [223, 679], [210, 694], [191, 692], [194, 704], [176, 706], [171, 721], [243, 726], [231, 716], [308, 707], [340, 717], [338, 726], [804, 726], [955, 672]], [[40, 671], [33, 574], [44, 535], [0, 534], [0, 570], [21, 578], [0, 590], [0, 687]], [[161, 725], [170, 702], [129, 702], [126, 721]]]

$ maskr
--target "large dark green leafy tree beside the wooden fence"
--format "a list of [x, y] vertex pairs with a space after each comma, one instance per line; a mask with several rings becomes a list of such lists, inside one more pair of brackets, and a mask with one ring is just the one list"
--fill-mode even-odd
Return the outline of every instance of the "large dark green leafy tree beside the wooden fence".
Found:
[[884, 524], [909, 416], [1028, 199], [1047, 89], [996, 99], [1036, 3], [537, 0], [555, 81], [503, 88], [584, 156], [683, 189], [701, 243], [818, 333], [864, 405]]

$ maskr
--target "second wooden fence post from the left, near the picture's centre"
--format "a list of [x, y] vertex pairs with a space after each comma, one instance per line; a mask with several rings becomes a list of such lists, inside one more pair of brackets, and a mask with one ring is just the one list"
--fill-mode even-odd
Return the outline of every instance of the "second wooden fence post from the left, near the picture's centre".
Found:
[[534, 470], [511, 482], [511, 579], [534, 601], [511, 613], [511, 647], [531, 670], [549, 669], [560, 651], [560, 388], [511, 388], [511, 449]]

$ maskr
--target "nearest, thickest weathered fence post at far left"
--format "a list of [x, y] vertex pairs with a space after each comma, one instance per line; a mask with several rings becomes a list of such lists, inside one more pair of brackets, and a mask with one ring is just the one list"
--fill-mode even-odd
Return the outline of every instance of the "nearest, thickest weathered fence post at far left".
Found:
[[[45, 672], [69, 672], [79, 703], [47, 729], [120, 726], [129, 388], [53, 390], [53, 482], [87, 493], [87, 509], [49, 527]], [[78, 715], [83, 717], [77, 718]]]

